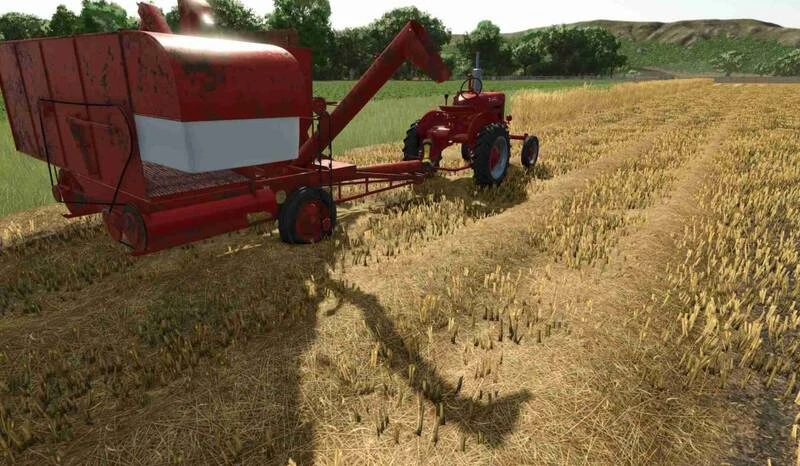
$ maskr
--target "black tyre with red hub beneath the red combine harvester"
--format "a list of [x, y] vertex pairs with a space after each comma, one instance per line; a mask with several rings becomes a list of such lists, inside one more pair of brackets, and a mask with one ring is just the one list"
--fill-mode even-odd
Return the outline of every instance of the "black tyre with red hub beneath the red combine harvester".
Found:
[[289, 244], [318, 243], [333, 233], [336, 203], [321, 188], [303, 186], [289, 195], [278, 214], [281, 240]]

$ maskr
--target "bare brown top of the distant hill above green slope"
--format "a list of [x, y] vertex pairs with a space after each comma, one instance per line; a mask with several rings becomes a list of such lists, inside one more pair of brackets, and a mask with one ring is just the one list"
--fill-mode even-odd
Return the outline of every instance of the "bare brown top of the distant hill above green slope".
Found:
[[[736, 39], [774, 40], [789, 47], [800, 47], [800, 29], [785, 28], [756, 19], [698, 19], [674, 23], [599, 19], [573, 23], [571, 26], [599, 26], [620, 39], [636, 42], [657, 41], [690, 45], [700, 39], [708, 40], [727, 35]], [[519, 36], [536, 29], [506, 35]]]

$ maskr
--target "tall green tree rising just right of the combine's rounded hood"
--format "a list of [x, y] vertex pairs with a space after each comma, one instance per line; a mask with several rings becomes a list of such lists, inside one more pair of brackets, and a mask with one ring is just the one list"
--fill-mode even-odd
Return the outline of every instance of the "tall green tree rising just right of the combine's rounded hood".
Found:
[[275, 10], [267, 17], [267, 25], [271, 29], [295, 29], [300, 43], [311, 49], [314, 75], [330, 76], [334, 33], [328, 0], [275, 0]]

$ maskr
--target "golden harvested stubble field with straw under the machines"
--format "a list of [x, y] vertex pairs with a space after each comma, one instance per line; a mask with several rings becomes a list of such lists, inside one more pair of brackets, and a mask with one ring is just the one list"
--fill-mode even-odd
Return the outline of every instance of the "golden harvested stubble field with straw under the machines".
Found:
[[797, 108], [795, 85], [520, 92], [535, 170], [515, 146], [499, 189], [344, 205], [312, 246], [133, 259], [58, 207], [0, 219], [0, 458], [800, 464]]

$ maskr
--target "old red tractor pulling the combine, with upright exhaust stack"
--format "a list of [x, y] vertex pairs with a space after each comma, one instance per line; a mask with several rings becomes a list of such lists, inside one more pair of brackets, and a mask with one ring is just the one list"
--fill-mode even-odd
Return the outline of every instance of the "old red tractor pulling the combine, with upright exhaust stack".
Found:
[[[448, 105], [431, 110], [411, 125], [403, 141], [403, 160], [427, 161], [438, 170], [461, 171], [472, 168], [480, 186], [497, 186], [506, 176], [511, 154], [511, 140], [522, 143], [522, 165], [533, 167], [539, 157], [536, 136], [509, 134], [511, 115], [505, 114], [506, 95], [484, 92], [479, 56], [475, 68]], [[467, 86], [467, 89], [464, 89]], [[442, 151], [461, 144], [461, 157], [466, 166], [447, 169], [439, 166]]]

